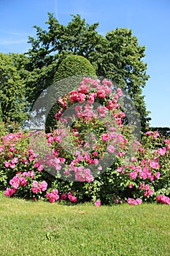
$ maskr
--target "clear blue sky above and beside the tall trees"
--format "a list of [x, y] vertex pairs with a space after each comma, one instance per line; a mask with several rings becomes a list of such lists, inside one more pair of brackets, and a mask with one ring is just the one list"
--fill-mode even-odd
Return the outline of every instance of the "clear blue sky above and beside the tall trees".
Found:
[[105, 35], [116, 28], [132, 29], [146, 46], [147, 74], [143, 91], [152, 127], [170, 127], [170, 0], [0, 0], [0, 52], [24, 53], [37, 25], [46, 28], [47, 12], [67, 24], [70, 14], [87, 23], [99, 22]]

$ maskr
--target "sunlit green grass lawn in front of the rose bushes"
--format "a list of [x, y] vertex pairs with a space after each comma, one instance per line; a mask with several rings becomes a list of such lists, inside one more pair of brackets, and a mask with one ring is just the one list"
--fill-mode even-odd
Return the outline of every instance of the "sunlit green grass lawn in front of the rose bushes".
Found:
[[0, 194], [0, 255], [170, 255], [170, 206], [64, 206]]

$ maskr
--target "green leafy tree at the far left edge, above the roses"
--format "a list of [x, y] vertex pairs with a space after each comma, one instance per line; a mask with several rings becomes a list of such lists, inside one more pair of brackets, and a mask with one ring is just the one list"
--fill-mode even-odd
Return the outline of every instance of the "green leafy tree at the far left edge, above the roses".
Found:
[[23, 123], [26, 120], [26, 87], [12, 56], [0, 53], [0, 102], [2, 120]]

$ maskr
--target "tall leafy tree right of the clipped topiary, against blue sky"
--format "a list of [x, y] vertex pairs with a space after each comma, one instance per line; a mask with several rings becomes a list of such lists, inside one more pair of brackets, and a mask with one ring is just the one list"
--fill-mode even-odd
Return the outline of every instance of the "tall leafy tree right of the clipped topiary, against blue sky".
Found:
[[107, 76], [128, 93], [134, 100], [144, 127], [150, 121], [142, 95], [142, 89], [149, 78], [147, 64], [142, 61], [145, 47], [139, 45], [138, 39], [128, 29], [110, 31], [101, 42], [96, 49], [98, 58], [93, 59], [98, 67], [97, 75]]

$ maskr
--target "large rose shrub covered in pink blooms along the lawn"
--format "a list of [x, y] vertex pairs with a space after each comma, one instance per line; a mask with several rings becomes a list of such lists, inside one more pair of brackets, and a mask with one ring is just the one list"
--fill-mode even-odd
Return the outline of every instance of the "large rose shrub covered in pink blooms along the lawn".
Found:
[[[146, 132], [140, 143], [108, 80], [84, 78], [58, 99], [58, 128], [46, 135], [18, 132], [0, 140], [0, 189], [8, 197], [169, 204], [170, 140]], [[95, 105], [96, 103], [96, 105]], [[72, 113], [72, 115], [70, 114]], [[34, 136], [33, 136], [34, 135]], [[34, 137], [34, 140], [32, 138]], [[99, 200], [98, 200], [99, 199]]]

